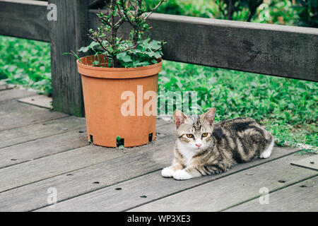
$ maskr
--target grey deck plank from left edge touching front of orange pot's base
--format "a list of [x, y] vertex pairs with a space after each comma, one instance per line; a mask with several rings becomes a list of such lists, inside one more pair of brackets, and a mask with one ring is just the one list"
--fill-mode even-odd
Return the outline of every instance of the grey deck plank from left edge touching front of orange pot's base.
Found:
[[[169, 125], [169, 127], [170, 126], [171, 125]], [[165, 127], [162, 126], [160, 128], [164, 130]], [[170, 138], [171, 134], [167, 137]], [[59, 141], [56, 142], [59, 143]], [[83, 167], [88, 167], [90, 165], [96, 165], [114, 157], [120, 157], [124, 155], [124, 153], [148, 150], [148, 148], [154, 146], [155, 142], [150, 143], [149, 145], [143, 145], [139, 148], [129, 148], [124, 151], [120, 151], [118, 148], [102, 148], [99, 146], [89, 145], [83, 148], [69, 150], [64, 153], [42, 157], [30, 162], [24, 162], [19, 165], [6, 167], [0, 169], [0, 192], [37, 182], [41, 179], [54, 177], [76, 169], [81, 169]], [[16, 145], [13, 148], [15, 147]], [[0, 154], [2, 153], [2, 150], [3, 149], [0, 149]]]

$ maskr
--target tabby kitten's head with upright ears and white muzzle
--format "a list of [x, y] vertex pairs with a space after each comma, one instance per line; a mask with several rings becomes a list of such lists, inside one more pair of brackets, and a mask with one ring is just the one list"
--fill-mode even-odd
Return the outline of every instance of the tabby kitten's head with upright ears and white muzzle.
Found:
[[187, 116], [178, 110], [175, 111], [174, 123], [182, 148], [199, 152], [211, 146], [215, 114], [215, 108], [201, 114], [199, 117]]

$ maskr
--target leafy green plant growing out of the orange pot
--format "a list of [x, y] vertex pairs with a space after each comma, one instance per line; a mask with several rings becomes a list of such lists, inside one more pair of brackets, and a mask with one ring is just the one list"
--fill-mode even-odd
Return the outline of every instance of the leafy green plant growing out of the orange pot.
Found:
[[[102, 54], [108, 61], [107, 66], [115, 68], [147, 66], [157, 63], [157, 60], [163, 55], [161, 48], [164, 42], [150, 42], [149, 37], [145, 41], [143, 35], [149, 30], [149, 25], [146, 23], [148, 16], [163, 1], [160, 0], [154, 8], [151, 8], [146, 7], [143, 0], [111, 0], [108, 13], [100, 12], [97, 14], [100, 19], [98, 28], [89, 30], [88, 35], [93, 42], [88, 47], [82, 47], [78, 51], [93, 50], [95, 56]], [[118, 29], [124, 23], [129, 23], [132, 28], [127, 40], [117, 35]], [[98, 63], [96, 65], [103, 66]]]

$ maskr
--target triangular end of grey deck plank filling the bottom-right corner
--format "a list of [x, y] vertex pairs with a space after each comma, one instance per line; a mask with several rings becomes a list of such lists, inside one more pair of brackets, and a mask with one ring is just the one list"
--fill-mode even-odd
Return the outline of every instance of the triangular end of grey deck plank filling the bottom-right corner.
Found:
[[298, 184], [293, 184], [285, 189], [275, 191], [269, 194], [269, 204], [259, 205], [259, 199], [256, 198], [240, 206], [235, 206], [227, 211], [240, 212], [317, 212], [318, 210], [318, 177], [308, 179]]

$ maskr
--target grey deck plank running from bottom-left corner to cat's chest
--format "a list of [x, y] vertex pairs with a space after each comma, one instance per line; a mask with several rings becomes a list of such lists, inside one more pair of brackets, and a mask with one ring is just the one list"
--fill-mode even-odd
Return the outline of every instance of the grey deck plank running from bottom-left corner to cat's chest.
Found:
[[[27, 211], [47, 206], [47, 189], [49, 187], [57, 189], [58, 200], [61, 201], [157, 170], [171, 160], [172, 143], [175, 141], [175, 137], [173, 136], [175, 131], [171, 124], [160, 126], [159, 128], [158, 131], [160, 135], [158, 135], [158, 138], [154, 142], [148, 145], [137, 148], [125, 148], [124, 150], [118, 150], [117, 148], [106, 149], [107, 152], [110, 150], [110, 152], [113, 153], [112, 155], [122, 155], [118, 154], [122, 152], [124, 153], [123, 157], [118, 157], [98, 165], [78, 169], [1, 193], [0, 210]], [[167, 152], [169, 149], [170, 151]], [[100, 150], [105, 150], [105, 148]], [[168, 155], [162, 155], [163, 151], [168, 153]], [[69, 151], [67, 153], [69, 153]], [[104, 155], [107, 154], [108, 153], [104, 153]], [[76, 158], [78, 158], [78, 155], [79, 153], [76, 153]], [[96, 155], [102, 154], [96, 153]], [[47, 157], [45, 158], [47, 159]], [[89, 158], [95, 157], [86, 156], [86, 159]], [[75, 162], [75, 160], [69, 161]], [[52, 163], [47, 163], [52, 165]], [[64, 169], [65, 167], [66, 166], [64, 166]], [[12, 182], [10, 181], [10, 183]]]

